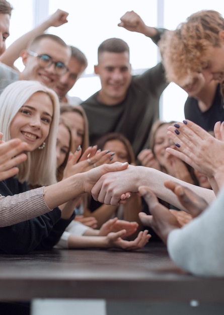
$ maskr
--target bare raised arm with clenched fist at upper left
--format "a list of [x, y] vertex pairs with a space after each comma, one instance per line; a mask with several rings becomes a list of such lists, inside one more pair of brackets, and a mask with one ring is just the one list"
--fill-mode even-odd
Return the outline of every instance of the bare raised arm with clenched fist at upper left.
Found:
[[29, 42], [34, 37], [43, 34], [51, 26], [58, 27], [67, 23], [67, 16], [67, 12], [58, 9], [54, 14], [49, 16], [46, 21], [13, 42], [1, 55], [0, 61], [14, 68], [14, 62], [19, 58], [20, 52], [26, 49]]

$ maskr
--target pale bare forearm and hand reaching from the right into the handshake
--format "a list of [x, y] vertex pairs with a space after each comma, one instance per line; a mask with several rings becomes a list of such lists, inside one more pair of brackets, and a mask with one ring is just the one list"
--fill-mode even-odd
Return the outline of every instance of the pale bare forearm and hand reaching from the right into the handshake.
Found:
[[95, 200], [106, 204], [117, 205], [122, 194], [137, 192], [139, 186], [147, 186], [158, 198], [173, 204], [178, 209], [186, 211], [178, 198], [164, 186], [164, 182], [169, 180], [193, 189], [207, 203], [210, 203], [215, 198], [214, 192], [211, 189], [183, 182], [155, 169], [132, 165], [129, 165], [126, 170], [122, 171], [122, 174], [111, 172], [103, 175], [95, 184], [91, 193]]

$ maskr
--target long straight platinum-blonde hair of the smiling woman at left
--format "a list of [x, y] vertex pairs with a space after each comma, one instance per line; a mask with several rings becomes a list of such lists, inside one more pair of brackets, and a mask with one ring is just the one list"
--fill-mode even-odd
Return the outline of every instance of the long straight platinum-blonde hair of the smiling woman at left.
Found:
[[37, 92], [46, 93], [53, 105], [53, 117], [45, 147], [27, 152], [27, 161], [19, 165], [18, 180], [35, 186], [47, 186], [56, 182], [56, 136], [59, 121], [59, 100], [56, 93], [37, 81], [17, 81], [0, 96], [0, 130], [4, 140], [11, 139], [10, 126], [20, 108]]

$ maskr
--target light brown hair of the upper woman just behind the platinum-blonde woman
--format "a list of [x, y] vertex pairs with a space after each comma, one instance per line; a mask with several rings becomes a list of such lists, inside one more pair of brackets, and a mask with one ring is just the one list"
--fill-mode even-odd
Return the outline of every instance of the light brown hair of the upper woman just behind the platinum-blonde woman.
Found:
[[[81, 147], [82, 147], [82, 151], [84, 152], [89, 146], [89, 123], [88, 123], [87, 115], [86, 115], [84, 109], [80, 105], [77, 105], [77, 106], [62, 105], [60, 108], [60, 114], [63, 114], [63, 113], [78, 113], [83, 117], [84, 132], [85, 133], [84, 133], [83, 142], [81, 144]], [[66, 124], [66, 119], [63, 119], [63, 120]], [[74, 152], [72, 151], [72, 153], [74, 153]]]

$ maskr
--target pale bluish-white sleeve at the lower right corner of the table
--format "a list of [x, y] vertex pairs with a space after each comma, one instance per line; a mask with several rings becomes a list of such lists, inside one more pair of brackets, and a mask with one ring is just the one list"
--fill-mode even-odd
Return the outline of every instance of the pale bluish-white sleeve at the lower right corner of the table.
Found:
[[180, 229], [168, 236], [171, 259], [199, 276], [224, 276], [224, 188], [217, 199]]

